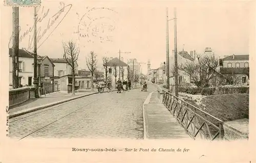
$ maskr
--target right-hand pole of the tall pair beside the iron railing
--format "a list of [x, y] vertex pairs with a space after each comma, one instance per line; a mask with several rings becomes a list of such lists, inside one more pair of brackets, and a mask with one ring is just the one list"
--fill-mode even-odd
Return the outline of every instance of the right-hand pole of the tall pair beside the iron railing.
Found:
[[177, 63], [177, 15], [174, 8], [174, 66], [175, 66], [175, 96], [178, 97], [178, 63]]

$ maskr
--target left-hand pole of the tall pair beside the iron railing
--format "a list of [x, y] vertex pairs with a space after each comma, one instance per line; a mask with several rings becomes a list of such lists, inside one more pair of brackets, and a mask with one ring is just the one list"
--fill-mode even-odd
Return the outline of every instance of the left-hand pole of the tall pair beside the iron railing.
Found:
[[166, 8], [166, 89], [169, 91], [169, 26], [168, 26], [168, 8]]

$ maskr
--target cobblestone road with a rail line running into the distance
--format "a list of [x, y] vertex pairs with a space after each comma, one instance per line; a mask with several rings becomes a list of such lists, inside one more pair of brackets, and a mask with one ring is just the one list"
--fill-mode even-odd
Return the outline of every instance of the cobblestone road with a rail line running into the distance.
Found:
[[148, 87], [148, 92], [96, 94], [12, 118], [10, 137], [142, 139], [142, 104], [156, 90]]

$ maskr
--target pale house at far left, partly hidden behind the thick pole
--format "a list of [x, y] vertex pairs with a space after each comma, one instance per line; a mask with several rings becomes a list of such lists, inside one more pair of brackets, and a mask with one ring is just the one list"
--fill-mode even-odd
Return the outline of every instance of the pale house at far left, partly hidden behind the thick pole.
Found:
[[[26, 49], [18, 50], [18, 83], [19, 86], [33, 85], [34, 56]], [[9, 87], [12, 88], [12, 48], [9, 48]]]

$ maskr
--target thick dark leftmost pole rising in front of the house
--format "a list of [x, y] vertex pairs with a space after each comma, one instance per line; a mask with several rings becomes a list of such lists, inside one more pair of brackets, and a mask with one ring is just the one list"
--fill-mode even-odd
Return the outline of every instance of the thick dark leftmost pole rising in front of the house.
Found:
[[12, 88], [18, 88], [19, 8], [12, 7]]

